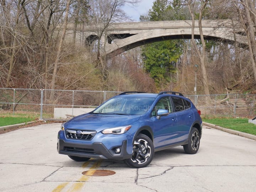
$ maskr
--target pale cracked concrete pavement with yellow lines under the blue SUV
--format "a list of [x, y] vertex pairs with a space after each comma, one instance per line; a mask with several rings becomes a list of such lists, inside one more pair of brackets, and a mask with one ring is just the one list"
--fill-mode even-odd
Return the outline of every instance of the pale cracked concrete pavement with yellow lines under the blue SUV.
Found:
[[[182, 146], [155, 153], [148, 167], [123, 161], [75, 162], [57, 153], [60, 123], [0, 134], [0, 191], [255, 191], [256, 141], [203, 128], [197, 154]], [[110, 176], [86, 176], [111, 170]]]

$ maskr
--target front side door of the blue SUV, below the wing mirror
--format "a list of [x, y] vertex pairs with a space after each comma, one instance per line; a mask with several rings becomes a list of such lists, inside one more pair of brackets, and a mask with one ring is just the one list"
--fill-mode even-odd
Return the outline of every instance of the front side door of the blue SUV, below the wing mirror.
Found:
[[[162, 97], [156, 103], [152, 112], [152, 120], [154, 122], [154, 144], [155, 148], [160, 146], [175, 143], [177, 137], [177, 116], [174, 113], [173, 106], [169, 96]], [[161, 116], [160, 119], [156, 116], [156, 110], [168, 110], [167, 116]]]

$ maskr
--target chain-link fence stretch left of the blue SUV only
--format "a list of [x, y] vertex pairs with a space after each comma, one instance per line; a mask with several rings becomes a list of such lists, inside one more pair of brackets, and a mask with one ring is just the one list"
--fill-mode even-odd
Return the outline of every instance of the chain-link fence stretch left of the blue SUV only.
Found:
[[[118, 95], [114, 91], [73, 91], [0, 88], [0, 114], [31, 114], [39, 119], [56, 119], [54, 110], [64, 109], [74, 116], [76, 108], [96, 108], [109, 98]], [[64, 117], [62, 117], [64, 118]]]

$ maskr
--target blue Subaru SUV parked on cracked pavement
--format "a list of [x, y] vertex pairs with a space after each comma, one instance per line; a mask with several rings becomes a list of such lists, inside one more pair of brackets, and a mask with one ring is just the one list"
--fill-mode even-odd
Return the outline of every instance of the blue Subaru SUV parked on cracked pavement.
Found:
[[166, 148], [182, 145], [185, 153], [197, 153], [200, 114], [178, 92], [123, 92], [63, 123], [57, 150], [75, 161], [124, 160], [130, 167], [145, 167], [155, 151]]

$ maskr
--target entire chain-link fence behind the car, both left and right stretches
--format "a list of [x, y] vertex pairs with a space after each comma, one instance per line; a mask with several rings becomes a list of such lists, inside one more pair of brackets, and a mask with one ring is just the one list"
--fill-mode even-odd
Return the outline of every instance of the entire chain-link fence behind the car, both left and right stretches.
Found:
[[[73, 91], [45, 89], [0, 88], [0, 114], [33, 114], [39, 119], [59, 119], [89, 112], [109, 98], [120, 94], [115, 91]], [[185, 95], [202, 115], [255, 116], [256, 95]], [[87, 110], [86, 110], [87, 109]], [[64, 113], [61, 116], [57, 111]], [[77, 112], [80, 110], [80, 112]]]

